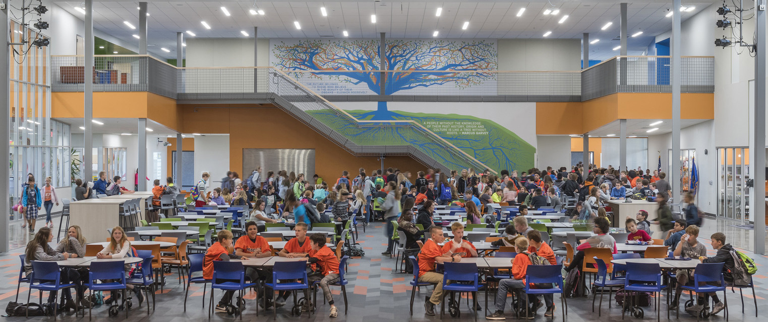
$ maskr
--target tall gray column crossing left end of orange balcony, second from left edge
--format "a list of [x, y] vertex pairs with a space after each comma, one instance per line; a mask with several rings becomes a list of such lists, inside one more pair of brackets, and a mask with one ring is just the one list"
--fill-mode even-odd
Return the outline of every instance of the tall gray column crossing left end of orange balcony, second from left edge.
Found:
[[85, 58], [83, 78], [83, 180], [93, 179], [93, 115], [94, 115], [94, 2], [85, 0]]

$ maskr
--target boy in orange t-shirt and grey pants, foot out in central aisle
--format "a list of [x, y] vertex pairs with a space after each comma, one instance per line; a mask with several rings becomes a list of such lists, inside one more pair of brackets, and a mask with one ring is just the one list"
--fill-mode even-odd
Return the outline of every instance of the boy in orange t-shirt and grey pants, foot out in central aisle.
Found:
[[310, 243], [312, 250], [308, 255], [310, 259], [307, 262], [317, 268], [315, 273], [308, 275], [310, 285], [319, 281], [323, 296], [326, 297], [326, 301], [331, 306], [328, 316], [336, 317], [339, 314], [339, 309], [333, 303], [333, 293], [331, 293], [328, 285], [339, 282], [339, 258], [336, 258], [336, 253], [326, 246], [326, 235], [313, 234], [310, 236]]

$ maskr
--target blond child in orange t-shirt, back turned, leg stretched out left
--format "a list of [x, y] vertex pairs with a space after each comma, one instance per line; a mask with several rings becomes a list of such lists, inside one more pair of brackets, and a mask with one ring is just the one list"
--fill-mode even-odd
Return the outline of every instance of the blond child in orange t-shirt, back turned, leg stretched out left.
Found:
[[[525, 288], [525, 274], [528, 271], [528, 265], [533, 264], [531, 263], [531, 259], [528, 258], [528, 254], [526, 254], [526, 251], [528, 251], [528, 239], [524, 237], [517, 238], [515, 240], [515, 251], [518, 252], [518, 255], [515, 255], [515, 258], [511, 259], [512, 278], [504, 278], [501, 281], [498, 281], [498, 291], [496, 291], [496, 311], [485, 317], [488, 320], [505, 320], [504, 307], [507, 304], [507, 293], [509, 293], [509, 291], [519, 291]], [[522, 302], [518, 301], [518, 303]], [[552, 310], [554, 311], [554, 308]], [[525, 310], [521, 313], [529, 320], [533, 319], [536, 315], [532, 310]]]

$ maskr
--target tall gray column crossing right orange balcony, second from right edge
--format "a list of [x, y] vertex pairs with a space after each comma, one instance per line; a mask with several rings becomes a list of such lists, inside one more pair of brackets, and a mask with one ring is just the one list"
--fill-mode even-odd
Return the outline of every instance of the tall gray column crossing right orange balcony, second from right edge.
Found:
[[672, 12], [672, 169], [668, 171], [672, 186], [670, 197], [674, 198], [674, 202], [680, 202], [680, 0], [674, 0]]

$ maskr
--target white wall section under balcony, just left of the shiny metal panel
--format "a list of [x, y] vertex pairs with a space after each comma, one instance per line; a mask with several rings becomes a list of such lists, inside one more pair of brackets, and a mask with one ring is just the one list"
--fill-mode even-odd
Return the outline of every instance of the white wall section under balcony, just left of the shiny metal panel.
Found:
[[[253, 41], [251, 41], [253, 43]], [[187, 46], [189, 46], [187, 44]], [[206, 171], [210, 173], [210, 189], [221, 186], [220, 179], [227, 176], [230, 167], [230, 136], [207, 135], [194, 137], [194, 172], [195, 178]], [[243, 173], [240, 179], [243, 178]], [[250, 175], [250, 173], [249, 173]]]

